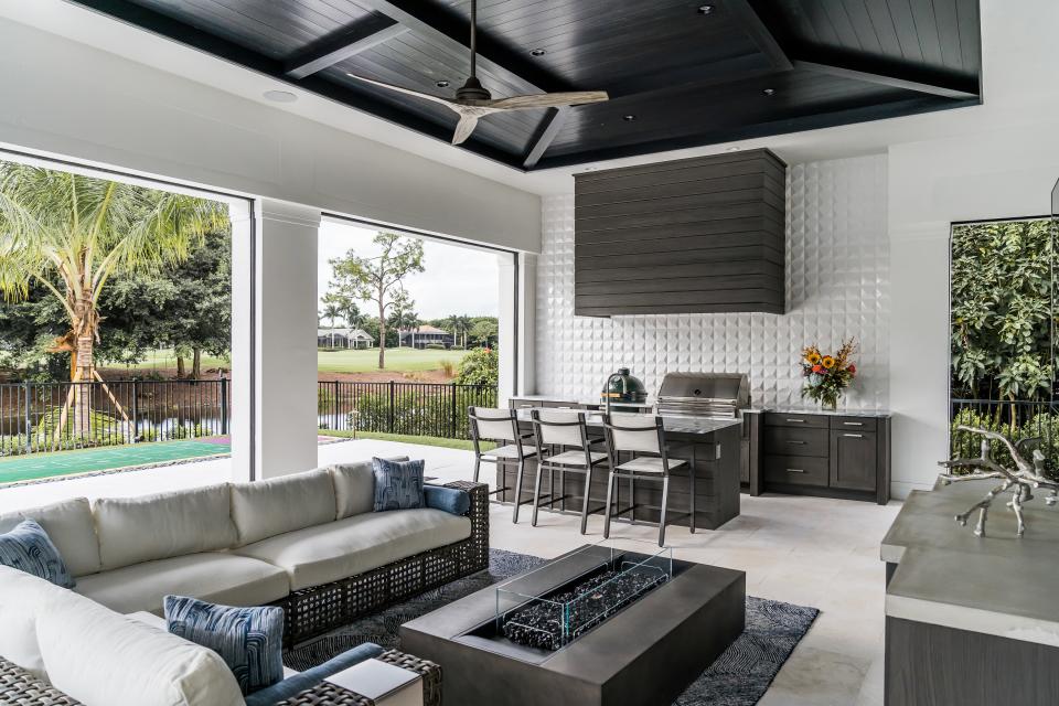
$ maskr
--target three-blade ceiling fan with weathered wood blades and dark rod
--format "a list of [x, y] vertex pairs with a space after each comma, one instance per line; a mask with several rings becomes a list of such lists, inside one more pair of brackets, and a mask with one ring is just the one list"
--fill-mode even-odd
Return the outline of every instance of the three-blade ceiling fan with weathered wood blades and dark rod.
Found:
[[600, 103], [608, 100], [610, 96], [606, 90], [574, 90], [567, 93], [543, 93], [532, 96], [512, 96], [510, 98], [493, 99], [475, 75], [478, 58], [478, 0], [471, 0], [471, 75], [467, 83], [456, 92], [456, 98], [442, 98], [428, 93], [420, 93], [411, 88], [394, 86], [381, 81], [373, 81], [356, 74], [346, 74], [357, 81], [379, 86], [388, 90], [395, 90], [408, 96], [415, 96], [432, 103], [443, 105], [446, 108], [460, 116], [460, 121], [456, 126], [456, 133], [452, 136], [452, 145], [460, 145], [471, 137], [471, 132], [478, 127], [479, 118], [483, 118], [493, 113], [503, 113], [504, 110], [526, 110], [532, 108], [558, 108], [563, 106], [577, 106], [586, 103]]

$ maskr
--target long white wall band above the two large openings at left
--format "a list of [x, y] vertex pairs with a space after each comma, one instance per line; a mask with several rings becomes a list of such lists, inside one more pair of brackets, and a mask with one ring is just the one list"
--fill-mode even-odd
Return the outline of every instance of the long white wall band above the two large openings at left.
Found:
[[0, 145], [539, 248], [536, 195], [452, 167], [4, 18], [0, 66]]

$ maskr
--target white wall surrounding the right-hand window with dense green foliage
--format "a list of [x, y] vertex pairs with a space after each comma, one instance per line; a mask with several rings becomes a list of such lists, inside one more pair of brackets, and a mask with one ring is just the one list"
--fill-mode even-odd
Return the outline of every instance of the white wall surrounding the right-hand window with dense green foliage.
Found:
[[1059, 121], [895, 146], [889, 165], [894, 491], [903, 496], [930, 488], [948, 452], [950, 224], [1049, 213]]

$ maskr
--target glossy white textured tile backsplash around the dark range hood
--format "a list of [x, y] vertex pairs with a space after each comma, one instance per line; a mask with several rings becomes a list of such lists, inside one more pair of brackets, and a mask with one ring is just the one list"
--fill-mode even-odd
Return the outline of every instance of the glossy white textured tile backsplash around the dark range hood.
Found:
[[745, 372], [756, 406], [800, 406], [806, 343], [856, 336], [859, 375], [839, 403], [887, 407], [889, 247], [884, 156], [791, 167], [787, 308], [764, 313], [574, 315], [574, 195], [544, 199], [537, 267], [537, 392], [595, 397], [619, 365], [652, 394], [668, 371]]

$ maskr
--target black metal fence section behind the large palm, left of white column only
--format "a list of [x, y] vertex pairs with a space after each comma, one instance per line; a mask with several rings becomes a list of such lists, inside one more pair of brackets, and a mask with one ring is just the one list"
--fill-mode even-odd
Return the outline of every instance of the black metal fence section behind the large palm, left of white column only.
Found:
[[231, 383], [0, 384], [0, 456], [225, 435]]

